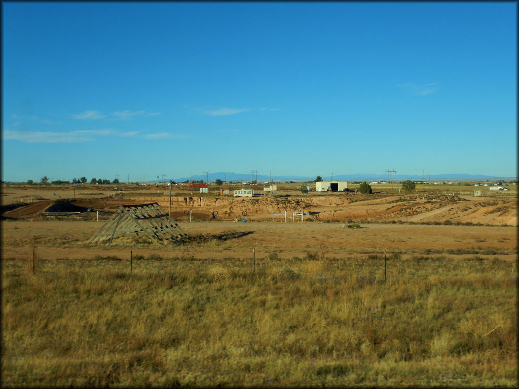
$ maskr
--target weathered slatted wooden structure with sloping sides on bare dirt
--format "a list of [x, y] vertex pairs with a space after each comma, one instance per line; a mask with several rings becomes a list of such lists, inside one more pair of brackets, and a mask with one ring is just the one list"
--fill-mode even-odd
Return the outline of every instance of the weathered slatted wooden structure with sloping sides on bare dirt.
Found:
[[148, 237], [154, 242], [187, 238], [187, 234], [157, 203], [121, 205], [87, 243], [101, 243], [119, 237]]

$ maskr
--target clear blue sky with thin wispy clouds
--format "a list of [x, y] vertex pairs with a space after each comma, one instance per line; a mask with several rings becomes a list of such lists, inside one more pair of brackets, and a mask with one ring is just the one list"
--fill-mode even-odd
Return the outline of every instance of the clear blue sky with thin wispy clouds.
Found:
[[2, 179], [516, 176], [517, 4], [2, 3]]

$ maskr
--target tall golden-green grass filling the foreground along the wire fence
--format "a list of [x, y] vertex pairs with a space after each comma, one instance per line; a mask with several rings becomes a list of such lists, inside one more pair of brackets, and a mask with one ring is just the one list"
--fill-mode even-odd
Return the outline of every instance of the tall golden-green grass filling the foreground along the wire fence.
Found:
[[3, 386], [516, 386], [498, 258], [3, 260]]

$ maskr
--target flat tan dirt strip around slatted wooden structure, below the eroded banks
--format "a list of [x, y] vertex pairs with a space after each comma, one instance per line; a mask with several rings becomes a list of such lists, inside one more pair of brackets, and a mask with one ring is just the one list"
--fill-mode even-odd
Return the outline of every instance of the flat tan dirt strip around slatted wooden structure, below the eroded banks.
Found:
[[[129, 258], [128, 247], [97, 247], [85, 242], [102, 222], [95, 221], [2, 221], [2, 258], [93, 258], [96, 255]], [[515, 260], [516, 229], [513, 227], [427, 226], [367, 224], [342, 228], [337, 223], [283, 223], [222, 221], [182, 222], [188, 242], [169, 245], [137, 245], [134, 255], [162, 257], [257, 258], [276, 253], [280, 257], [364, 256], [399, 252], [423, 255], [424, 249], [499, 248], [500, 258]], [[438, 255], [438, 254], [436, 254]], [[473, 255], [472, 255], [473, 256]]]

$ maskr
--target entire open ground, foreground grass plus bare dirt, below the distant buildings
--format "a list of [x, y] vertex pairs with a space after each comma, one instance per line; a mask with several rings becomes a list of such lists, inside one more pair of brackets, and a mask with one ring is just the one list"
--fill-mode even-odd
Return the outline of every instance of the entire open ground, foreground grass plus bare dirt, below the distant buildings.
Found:
[[[22, 190], [2, 198], [5, 387], [518, 384], [514, 196], [179, 191], [186, 241], [95, 246], [166, 190]], [[54, 196], [101, 220], [44, 219]]]

